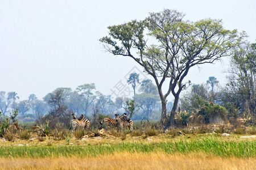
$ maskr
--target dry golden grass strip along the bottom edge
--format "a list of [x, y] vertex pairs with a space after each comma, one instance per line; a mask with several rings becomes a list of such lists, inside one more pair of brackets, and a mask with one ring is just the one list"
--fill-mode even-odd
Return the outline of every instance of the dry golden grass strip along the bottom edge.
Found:
[[256, 169], [256, 158], [123, 152], [89, 158], [5, 158], [0, 159], [0, 169]]

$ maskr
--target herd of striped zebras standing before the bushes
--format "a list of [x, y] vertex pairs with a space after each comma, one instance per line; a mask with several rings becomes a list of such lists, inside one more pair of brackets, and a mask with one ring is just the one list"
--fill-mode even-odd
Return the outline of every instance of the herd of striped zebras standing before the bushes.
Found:
[[[80, 117], [76, 118], [76, 113], [71, 114], [73, 119], [71, 120], [71, 129], [87, 129], [89, 130], [90, 121], [84, 118], [84, 114], [80, 114]], [[133, 131], [133, 121], [127, 116], [126, 113], [123, 113], [118, 117], [118, 114], [115, 114], [115, 119], [110, 117], [105, 117], [101, 122], [101, 125], [108, 126], [109, 128], [117, 128], [117, 131], [128, 127], [131, 131]]]

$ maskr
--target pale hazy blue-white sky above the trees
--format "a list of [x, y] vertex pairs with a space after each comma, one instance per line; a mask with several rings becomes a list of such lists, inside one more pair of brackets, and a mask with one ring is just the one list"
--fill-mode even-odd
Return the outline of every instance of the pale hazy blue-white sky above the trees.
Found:
[[[186, 14], [185, 19], [222, 19], [226, 29], [246, 31], [256, 40], [255, 0], [168, 1], [11, 1], [0, 0], [0, 91], [15, 91], [21, 100], [42, 99], [58, 87], [95, 83], [104, 95], [138, 66], [131, 58], [105, 53], [98, 41], [107, 27], [164, 8]], [[215, 76], [224, 84], [228, 62], [191, 70], [192, 83]], [[150, 76], [148, 76], [150, 78]], [[130, 87], [131, 89], [131, 87]], [[115, 96], [114, 96], [115, 97]]]

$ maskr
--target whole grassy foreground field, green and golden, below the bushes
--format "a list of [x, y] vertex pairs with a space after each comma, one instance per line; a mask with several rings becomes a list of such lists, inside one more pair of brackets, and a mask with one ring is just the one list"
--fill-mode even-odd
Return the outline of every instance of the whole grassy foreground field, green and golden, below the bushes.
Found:
[[1, 138], [0, 169], [256, 169], [255, 139], [236, 134]]

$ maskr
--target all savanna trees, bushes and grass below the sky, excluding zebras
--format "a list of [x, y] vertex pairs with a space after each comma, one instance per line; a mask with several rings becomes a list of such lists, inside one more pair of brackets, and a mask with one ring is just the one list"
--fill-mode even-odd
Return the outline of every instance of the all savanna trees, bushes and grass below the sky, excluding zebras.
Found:
[[[176, 10], [108, 30], [104, 49], [134, 59], [152, 80], [130, 74], [133, 97], [115, 100], [94, 83], [56, 88], [43, 100], [1, 91], [0, 169], [256, 168], [256, 43], [245, 32], [226, 30], [221, 20], [189, 22]], [[184, 82], [191, 67], [223, 57], [230, 59], [225, 86], [214, 76]], [[71, 130], [73, 113], [89, 129]], [[123, 113], [134, 131], [100, 124]]]

